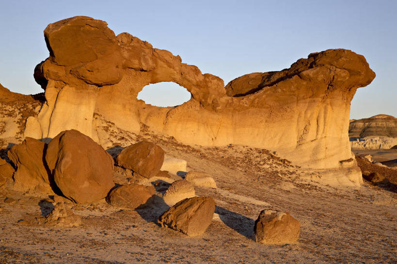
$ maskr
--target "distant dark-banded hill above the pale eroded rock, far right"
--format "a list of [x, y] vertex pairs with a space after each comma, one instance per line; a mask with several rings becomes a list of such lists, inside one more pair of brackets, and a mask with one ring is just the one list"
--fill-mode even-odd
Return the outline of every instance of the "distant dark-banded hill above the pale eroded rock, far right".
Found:
[[397, 118], [380, 114], [350, 121], [349, 138], [369, 136], [397, 138]]

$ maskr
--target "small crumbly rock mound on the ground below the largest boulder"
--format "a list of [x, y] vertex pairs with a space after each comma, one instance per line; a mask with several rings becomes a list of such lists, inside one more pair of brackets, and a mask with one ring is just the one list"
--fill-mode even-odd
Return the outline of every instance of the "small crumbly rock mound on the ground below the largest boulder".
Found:
[[37, 219], [38, 224], [56, 227], [78, 227], [81, 217], [75, 215], [63, 202], [55, 204], [54, 209], [44, 218]]

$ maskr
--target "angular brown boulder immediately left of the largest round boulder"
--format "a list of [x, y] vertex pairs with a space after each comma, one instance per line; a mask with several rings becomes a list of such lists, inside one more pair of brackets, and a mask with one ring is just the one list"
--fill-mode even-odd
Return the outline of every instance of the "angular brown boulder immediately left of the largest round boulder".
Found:
[[53, 194], [52, 178], [44, 161], [47, 144], [26, 138], [8, 151], [8, 157], [16, 166], [14, 187], [18, 190]]

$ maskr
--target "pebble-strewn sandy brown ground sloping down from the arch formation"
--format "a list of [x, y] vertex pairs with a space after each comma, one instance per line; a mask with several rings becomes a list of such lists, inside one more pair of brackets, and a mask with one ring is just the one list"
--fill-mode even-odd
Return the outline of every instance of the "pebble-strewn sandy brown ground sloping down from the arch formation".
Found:
[[[159, 227], [155, 205], [127, 211], [104, 200], [68, 203], [83, 217], [78, 228], [38, 225], [50, 198], [0, 189], [0, 263], [397, 263], [397, 193], [366, 181], [359, 189], [321, 186], [265, 150], [152, 140], [215, 179], [217, 190], [196, 187], [217, 205], [206, 233]], [[301, 222], [297, 243], [254, 242], [254, 220], [269, 207]]]

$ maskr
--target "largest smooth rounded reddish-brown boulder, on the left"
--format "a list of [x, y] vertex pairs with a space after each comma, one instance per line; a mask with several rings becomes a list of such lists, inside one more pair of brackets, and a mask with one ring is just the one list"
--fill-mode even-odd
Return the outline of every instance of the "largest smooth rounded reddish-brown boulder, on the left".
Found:
[[77, 130], [67, 130], [48, 143], [46, 161], [64, 196], [83, 203], [105, 198], [114, 186], [113, 159]]

